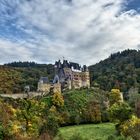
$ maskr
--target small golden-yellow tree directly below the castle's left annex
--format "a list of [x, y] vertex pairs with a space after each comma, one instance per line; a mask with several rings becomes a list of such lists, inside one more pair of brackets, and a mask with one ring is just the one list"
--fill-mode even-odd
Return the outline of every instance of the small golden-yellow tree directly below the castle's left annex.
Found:
[[61, 95], [61, 93], [56, 92], [53, 95], [52, 102], [55, 106], [58, 106], [58, 107], [64, 106], [64, 99], [63, 99], [63, 96]]

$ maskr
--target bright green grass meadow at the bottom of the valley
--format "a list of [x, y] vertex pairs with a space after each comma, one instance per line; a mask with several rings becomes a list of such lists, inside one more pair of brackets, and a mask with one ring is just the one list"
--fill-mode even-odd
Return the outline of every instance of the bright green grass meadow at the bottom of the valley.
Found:
[[[73, 135], [80, 135], [86, 140], [107, 140], [108, 136], [113, 134], [115, 134], [114, 124], [101, 123], [62, 127], [58, 135], [61, 135], [64, 140], [69, 140]], [[57, 139], [58, 136], [55, 140]]]

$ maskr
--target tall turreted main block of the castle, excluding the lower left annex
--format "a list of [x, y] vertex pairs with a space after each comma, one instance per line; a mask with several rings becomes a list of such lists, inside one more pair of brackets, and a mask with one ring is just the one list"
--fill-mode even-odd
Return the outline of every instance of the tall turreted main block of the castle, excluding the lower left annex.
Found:
[[90, 87], [90, 77], [88, 67], [81, 67], [78, 63], [68, 62], [67, 60], [55, 62], [55, 73], [58, 75], [63, 88], [77, 89]]

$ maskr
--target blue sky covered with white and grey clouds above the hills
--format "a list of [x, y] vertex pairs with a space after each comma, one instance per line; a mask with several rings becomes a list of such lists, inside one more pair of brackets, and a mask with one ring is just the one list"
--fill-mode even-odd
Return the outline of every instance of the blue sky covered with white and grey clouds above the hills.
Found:
[[0, 64], [92, 65], [140, 49], [140, 0], [0, 0]]

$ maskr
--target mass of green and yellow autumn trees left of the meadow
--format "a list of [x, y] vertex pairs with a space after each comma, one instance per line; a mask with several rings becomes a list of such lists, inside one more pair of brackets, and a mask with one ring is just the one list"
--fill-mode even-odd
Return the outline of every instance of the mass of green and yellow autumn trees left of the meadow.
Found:
[[[58, 131], [59, 117], [41, 100], [19, 99], [12, 104], [0, 100], [0, 137], [10, 140], [53, 138]], [[14, 107], [13, 107], [14, 105]]]

